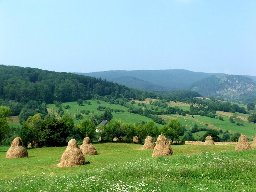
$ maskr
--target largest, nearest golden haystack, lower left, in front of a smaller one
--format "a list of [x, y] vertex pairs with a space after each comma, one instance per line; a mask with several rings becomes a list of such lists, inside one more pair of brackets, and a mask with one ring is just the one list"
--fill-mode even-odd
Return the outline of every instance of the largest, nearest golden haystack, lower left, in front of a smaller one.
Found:
[[84, 164], [85, 159], [82, 151], [78, 147], [76, 140], [71, 139], [68, 142], [68, 147], [61, 156], [59, 167], [72, 167]]

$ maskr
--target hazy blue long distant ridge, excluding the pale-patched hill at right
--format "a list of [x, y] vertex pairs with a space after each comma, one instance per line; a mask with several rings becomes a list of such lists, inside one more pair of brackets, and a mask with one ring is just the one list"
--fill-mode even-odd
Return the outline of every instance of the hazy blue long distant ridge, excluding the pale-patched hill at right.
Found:
[[[168, 70], [134, 70], [134, 71], [102, 71], [92, 73], [75, 73], [102, 78], [141, 90], [188, 90], [190, 84], [211, 75], [184, 69]], [[127, 77], [130, 78], [127, 78]], [[132, 79], [133, 77], [134, 79]], [[151, 84], [151, 85], [150, 85]]]

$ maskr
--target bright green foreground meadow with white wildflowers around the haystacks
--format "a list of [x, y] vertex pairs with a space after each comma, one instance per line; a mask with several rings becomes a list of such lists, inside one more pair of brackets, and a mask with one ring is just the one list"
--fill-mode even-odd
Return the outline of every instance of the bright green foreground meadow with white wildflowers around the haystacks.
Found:
[[90, 163], [67, 168], [57, 167], [65, 147], [30, 149], [22, 159], [1, 152], [0, 191], [255, 191], [255, 148], [172, 146], [173, 156], [153, 158], [142, 145], [94, 146]]

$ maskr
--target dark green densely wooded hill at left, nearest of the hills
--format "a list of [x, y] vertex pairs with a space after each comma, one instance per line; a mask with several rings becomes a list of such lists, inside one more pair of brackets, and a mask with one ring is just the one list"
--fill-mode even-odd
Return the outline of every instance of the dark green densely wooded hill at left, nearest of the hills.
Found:
[[[26, 103], [29, 100], [53, 103], [100, 96], [123, 94], [132, 98], [134, 90], [101, 78], [66, 72], [45, 71], [0, 65], [0, 99]], [[118, 95], [119, 96], [119, 95]], [[139, 93], [141, 97], [141, 93]]]

